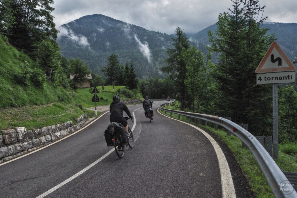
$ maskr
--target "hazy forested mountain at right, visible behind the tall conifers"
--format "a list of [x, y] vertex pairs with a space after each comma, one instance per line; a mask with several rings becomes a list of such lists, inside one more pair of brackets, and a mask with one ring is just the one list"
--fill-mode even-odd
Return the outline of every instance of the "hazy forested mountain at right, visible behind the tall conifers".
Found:
[[[297, 23], [265, 23], [263, 28], [270, 28], [268, 34], [275, 34], [277, 43], [282, 50], [293, 61], [297, 56]], [[217, 25], [211, 25], [197, 34], [189, 37], [189, 40], [195, 42], [197, 45], [208, 45], [208, 30], [214, 32], [217, 30]]]

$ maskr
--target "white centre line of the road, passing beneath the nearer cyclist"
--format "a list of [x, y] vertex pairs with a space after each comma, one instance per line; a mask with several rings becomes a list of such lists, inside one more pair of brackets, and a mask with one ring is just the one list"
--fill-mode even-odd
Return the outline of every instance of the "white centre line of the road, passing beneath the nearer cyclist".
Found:
[[[141, 109], [142, 107], [140, 107], [139, 109]], [[136, 109], [138, 110], [138, 109]], [[134, 111], [136, 111], [134, 110]], [[135, 129], [136, 126], [136, 119], [135, 119], [135, 114], [133, 111], [133, 117], [134, 117], [134, 123], [133, 123], [133, 127], [131, 129], [131, 131], [133, 131]], [[106, 112], [107, 113], [107, 112]], [[105, 114], [105, 113], [104, 113]], [[45, 193], [39, 195], [36, 198], [42, 198], [47, 196], [48, 194], [52, 193], [53, 191], [55, 191], [56, 189], [59, 189], [61, 186], [65, 185], [66, 183], [68, 183], [69, 181], [75, 179], [76, 177], [78, 177], [79, 175], [83, 174], [84, 172], [86, 172], [87, 170], [89, 170], [91, 167], [95, 166], [96, 164], [98, 164], [102, 159], [104, 159], [105, 157], [107, 157], [110, 153], [112, 153], [114, 151], [114, 148], [112, 148], [110, 151], [108, 151], [104, 156], [100, 157], [99, 159], [97, 159], [96, 161], [94, 161], [92, 164], [90, 164], [89, 166], [87, 166], [86, 168], [84, 168], [83, 170], [81, 170], [80, 172], [76, 173], [75, 175], [73, 175], [72, 177], [68, 178], [67, 180], [63, 181], [62, 183], [59, 183], [57, 186], [49, 189], [48, 191], [46, 191]]]

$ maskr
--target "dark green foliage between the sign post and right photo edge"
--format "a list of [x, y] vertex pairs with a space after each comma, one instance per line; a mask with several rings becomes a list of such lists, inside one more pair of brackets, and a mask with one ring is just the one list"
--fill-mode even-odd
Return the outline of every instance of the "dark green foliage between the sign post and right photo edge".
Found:
[[278, 89], [279, 142], [297, 140], [297, 92], [292, 85]]

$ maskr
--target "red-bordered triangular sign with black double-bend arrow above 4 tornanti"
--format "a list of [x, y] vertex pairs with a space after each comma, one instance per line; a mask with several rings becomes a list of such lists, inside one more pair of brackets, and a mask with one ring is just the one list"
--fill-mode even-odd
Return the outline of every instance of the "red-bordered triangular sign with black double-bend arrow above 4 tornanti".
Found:
[[282, 49], [277, 45], [277, 42], [273, 42], [267, 50], [265, 56], [262, 58], [259, 66], [256, 69], [256, 73], [267, 72], [285, 72], [295, 71], [293, 63], [285, 55]]

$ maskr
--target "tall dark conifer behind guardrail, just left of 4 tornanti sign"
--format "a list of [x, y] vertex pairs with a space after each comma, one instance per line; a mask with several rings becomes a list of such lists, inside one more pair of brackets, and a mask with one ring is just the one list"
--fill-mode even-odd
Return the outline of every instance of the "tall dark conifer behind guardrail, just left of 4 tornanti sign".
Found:
[[274, 37], [260, 27], [266, 18], [256, 21], [264, 9], [258, 1], [232, 2], [233, 10], [219, 15], [216, 37], [209, 32], [212, 49], [220, 55], [213, 70], [220, 91], [217, 105], [220, 116], [248, 123], [255, 135], [267, 135], [271, 132], [271, 86], [256, 85], [255, 69]]

